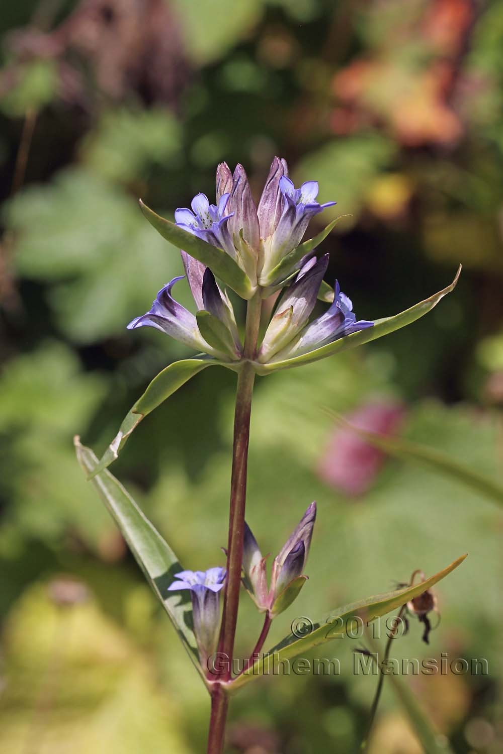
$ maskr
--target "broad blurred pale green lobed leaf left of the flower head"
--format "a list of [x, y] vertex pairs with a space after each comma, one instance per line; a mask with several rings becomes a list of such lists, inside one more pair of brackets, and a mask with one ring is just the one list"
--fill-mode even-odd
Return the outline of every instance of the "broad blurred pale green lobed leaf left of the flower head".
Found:
[[146, 310], [159, 281], [182, 268], [178, 250], [152, 233], [136, 200], [84, 167], [29, 184], [5, 209], [16, 241], [14, 269], [49, 284], [51, 316], [67, 341], [120, 336]]

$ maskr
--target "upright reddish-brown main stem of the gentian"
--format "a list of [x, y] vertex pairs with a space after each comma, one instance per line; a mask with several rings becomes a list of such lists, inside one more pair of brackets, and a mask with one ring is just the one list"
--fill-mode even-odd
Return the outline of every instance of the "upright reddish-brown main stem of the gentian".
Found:
[[[234, 417], [234, 443], [232, 446], [231, 504], [228, 517], [227, 577], [225, 585], [222, 628], [219, 652], [224, 660], [220, 680], [232, 677], [234, 639], [238, 622], [239, 590], [243, 565], [244, 508], [247, 495], [248, 444], [250, 442], [250, 415], [255, 371], [250, 361], [256, 356], [259, 336], [262, 298], [260, 290], [248, 302], [247, 324], [244, 337], [244, 361], [238, 373]], [[218, 682], [211, 697], [210, 732], [207, 754], [222, 752], [228, 699], [225, 688]]]

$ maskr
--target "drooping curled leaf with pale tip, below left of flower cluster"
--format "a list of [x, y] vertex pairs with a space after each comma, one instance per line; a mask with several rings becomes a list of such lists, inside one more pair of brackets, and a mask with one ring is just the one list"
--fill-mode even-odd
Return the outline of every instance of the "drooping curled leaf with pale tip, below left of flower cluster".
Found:
[[207, 366], [214, 364], [221, 364], [222, 366], [229, 366], [225, 362], [216, 361], [215, 359], [197, 358], [197, 359], [185, 359], [182, 361], [175, 361], [152, 380], [149, 387], [143, 393], [142, 397], [136, 401], [132, 409], [127, 413], [124, 421], [122, 422], [118, 433], [104, 452], [100, 463], [94, 468], [94, 471], [90, 474], [89, 478], [92, 479], [95, 474], [100, 474], [100, 471], [106, 469], [112, 461], [118, 458], [119, 452], [124, 447], [124, 443], [130, 437], [130, 434], [136, 429], [143, 418], [146, 417], [151, 411], [156, 409], [160, 404], [173, 395], [178, 388], [181, 388], [191, 377], [194, 377], [206, 369]]

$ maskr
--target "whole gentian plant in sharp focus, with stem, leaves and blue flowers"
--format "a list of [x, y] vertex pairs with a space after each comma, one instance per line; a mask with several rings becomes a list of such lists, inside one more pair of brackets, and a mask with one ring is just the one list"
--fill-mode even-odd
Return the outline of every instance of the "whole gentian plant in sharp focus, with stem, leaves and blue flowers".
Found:
[[[277, 654], [280, 661], [290, 659], [341, 636], [355, 616], [372, 621], [407, 603], [414, 605], [419, 595], [462, 561], [459, 558], [420, 584], [337, 608], [330, 613], [328, 629], [327, 623], [321, 621], [313, 624], [309, 633], [292, 633], [270, 652], [261, 654], [271, 621], [290, 607], [305, 585], [316, 505], [308, 507], [275, 557], [268, 579], [266, 559], [244, 519], [256, 376], [333, 357], [409, 325], [450, 293], [459, 276], [458, 271], [448, 287], [400, 314], [381, 320], [358, 320], [339, 282], [336, 280], [333, 288], [324, 282], [328, 255], [317, 253], [336, 221], [315, 238], [302, 241], [310, 219], [335, 204], [319, 204], [317, 193], [315, 181], [296, 189], [288, 177], [286, 162], [275, 158], [258, 205], [253, 201], [244, 168], [238, 165], [232, 173], [225, 163], [216, 170], [215, 204], [198, 194], [191, 209], [176, 210], [176, 222], [170, 222], [140, 203], [155, 230], [181, 250], [196, 311], [187, 311], [173, 297], [173, 286], [180, 280], [176, 277], [161, 288], [149, 311], [128, 327], [155, 327], [198, 354], [170, 364], [153, 379], [124, 418], [100, 461], [90, 449], [81, 446], [78, 438], [75, 440], [81, 465], [94, 480], [207, 686], [211, 697], [207, 746], [210, 754], [222, 751], [229, 697], [266, 672], [271, 653]], [[227, 289], [247, 302], [244, 326], [236, 321]], [[262, 322], [262, 302], [273, 294], [278, 296], [275, 311], [268, 322]], [[325, 302], [321, 314], [315, 312], [320, 306], [318, 300]], [[227, 562], [225, 569], [192, 572], [182, 569], [167, 542], [106, 469], [149, 412], [210, 366], [231, 369], [238, 382]], [[240, 672], [235, 670], [234, 643], [241, 583], [264, 614], [264, 626]]]

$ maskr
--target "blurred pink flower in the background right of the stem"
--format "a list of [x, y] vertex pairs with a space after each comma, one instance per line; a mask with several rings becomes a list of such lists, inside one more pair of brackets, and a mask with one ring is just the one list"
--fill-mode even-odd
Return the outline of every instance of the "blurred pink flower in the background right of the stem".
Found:
[[[405, 412], [403, 403], [383, 400], [367, 403], [346, 418], [358, 429], [390, 436], [399, 431]], [[384, 462], [384, 452], [351, 428], [338, 425], [321, 456], [317, 474], [347, 495], [363, 495], [373, 485]]]

